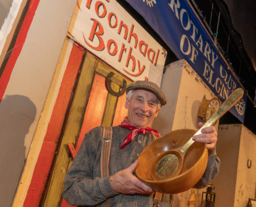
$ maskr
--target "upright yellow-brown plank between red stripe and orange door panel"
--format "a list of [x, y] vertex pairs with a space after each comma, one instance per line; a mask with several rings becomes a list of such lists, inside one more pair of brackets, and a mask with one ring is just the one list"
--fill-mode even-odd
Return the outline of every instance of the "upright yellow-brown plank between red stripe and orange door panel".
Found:
[[76, 87], [76, 93], [73, 98], [71, 110], [66, 122], [60, 149], [55, 161], [55, 166], [51, 175], [50, 185], [46, 194], [44, 206], [58, 206], [63, 190], [63, 180], [66, 175], [67, 167], [70, 162], [67, 144], [75, 143], [80, 133], [81, 114], [85, 112], [90, 92], [91, 81], [94, 72], [96, 58], [86, 55], [85, 62], [81, 70], [79, 81]]

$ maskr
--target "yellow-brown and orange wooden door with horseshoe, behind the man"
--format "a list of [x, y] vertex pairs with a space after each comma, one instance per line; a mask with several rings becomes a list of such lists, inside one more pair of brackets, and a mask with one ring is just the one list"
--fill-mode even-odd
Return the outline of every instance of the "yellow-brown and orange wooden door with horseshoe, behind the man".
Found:
[[[81, 50], [85, 49], [81, 47]], [[72, 162], [67, 145], [72, 143], [77, 152], [87, 131], [96, 126], [119, 125], [127, 115], [126, 93], [120, 97], [115, 93], [131, 81], [91, 53], [85, 51], [84, 54], [43, 206], [69, 206], [61, 195], [63, 180]]]

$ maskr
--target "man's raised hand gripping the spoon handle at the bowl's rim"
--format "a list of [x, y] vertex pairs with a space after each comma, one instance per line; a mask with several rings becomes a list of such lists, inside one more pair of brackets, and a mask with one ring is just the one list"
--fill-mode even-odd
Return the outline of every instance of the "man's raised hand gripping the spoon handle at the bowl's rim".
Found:
[[[198, 123], [199, 128], [203, 125], [204, 124], [202, 122]], [[193, 136], [193, 140], [195, 140], [197, 142], [207, 143], [205, 145], [205, 147], [206, 147], [206, 149], [210, 150], [215, 147], [216, 142], [218, 140], [217, 132], [216, 132], [214, 126], [208, 126], [201, 130], [201, 134]]]

